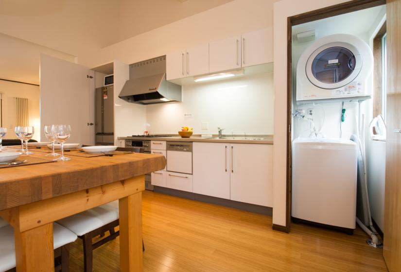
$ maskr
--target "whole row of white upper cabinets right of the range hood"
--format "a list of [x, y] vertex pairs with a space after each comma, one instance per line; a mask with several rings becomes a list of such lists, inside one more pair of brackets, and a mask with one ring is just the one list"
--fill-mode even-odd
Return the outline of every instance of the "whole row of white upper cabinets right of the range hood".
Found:
[[273, 62], [273, 28], [167, 54], [167, 80]]

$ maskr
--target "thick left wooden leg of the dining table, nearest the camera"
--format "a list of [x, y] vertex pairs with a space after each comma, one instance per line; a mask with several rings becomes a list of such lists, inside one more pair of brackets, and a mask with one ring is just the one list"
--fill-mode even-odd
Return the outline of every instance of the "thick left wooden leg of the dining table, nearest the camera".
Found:
[[54, 271], [53, 223], [24, 232], [14, 228], [17, 272]]

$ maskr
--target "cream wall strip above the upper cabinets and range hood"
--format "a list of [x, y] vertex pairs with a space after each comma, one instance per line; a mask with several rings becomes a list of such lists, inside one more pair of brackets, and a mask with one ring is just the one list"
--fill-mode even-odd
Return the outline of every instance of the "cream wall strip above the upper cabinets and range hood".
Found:
[[273, 26], [276, 0], [234, 0], [205, 12], [139, 34], [79, 56], [89, 67], [118, 59], [126, 64], [165, 55], [190, 46]]

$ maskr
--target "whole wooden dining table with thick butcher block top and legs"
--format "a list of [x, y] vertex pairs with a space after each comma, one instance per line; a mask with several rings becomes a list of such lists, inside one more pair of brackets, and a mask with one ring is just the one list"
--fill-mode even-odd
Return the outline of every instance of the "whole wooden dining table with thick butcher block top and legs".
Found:
[[[34, 158], [50, 157], [30, 151]], [[17, 272], [54, 271], [52, 222], [115, 200], [120, 208], [121, 271], [142, 271], [144, 174], [164, 169], [165, 157], [65, 155], [71, 159], [0, 168], [0, 217], [14, 227]]]

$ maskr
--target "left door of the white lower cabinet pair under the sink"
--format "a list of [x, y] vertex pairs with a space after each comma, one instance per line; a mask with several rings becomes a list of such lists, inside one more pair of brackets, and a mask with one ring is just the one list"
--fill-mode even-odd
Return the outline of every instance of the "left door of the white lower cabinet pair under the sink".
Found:
[[193, 143], [193, 192], [230, 199], [230, 144]]

